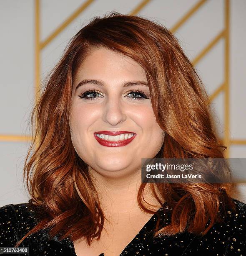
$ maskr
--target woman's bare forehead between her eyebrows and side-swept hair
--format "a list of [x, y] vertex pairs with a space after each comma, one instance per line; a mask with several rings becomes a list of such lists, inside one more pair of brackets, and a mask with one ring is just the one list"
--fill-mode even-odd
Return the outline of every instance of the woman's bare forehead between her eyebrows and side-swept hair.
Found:
[[124, 77], [146, 80], [144, 69], [134, 59], [105, 47], [98, 47], [93, 48], [80, 64], [75, 80], [124, 79]]

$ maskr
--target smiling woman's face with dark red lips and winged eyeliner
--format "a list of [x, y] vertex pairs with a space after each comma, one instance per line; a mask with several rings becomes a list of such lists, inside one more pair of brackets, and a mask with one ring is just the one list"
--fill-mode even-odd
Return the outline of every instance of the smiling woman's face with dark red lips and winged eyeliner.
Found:
[[128, 56], [94, 48], [73, 80], [70, 131], [76, 152], [96, 172], [112, 177], [140, 170], [141, 158], [156, 156], [165, 135], [144, 69]]

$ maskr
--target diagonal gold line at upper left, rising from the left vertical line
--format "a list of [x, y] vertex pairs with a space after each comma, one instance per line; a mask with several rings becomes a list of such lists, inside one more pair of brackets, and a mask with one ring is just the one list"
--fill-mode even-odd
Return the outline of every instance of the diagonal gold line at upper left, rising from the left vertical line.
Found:
[[43, 49], [47, 44], [49, 44], [60, 32], [62, 32], [75, 18], [80, 15], [80, 13], [85, 10], [94, 0], [87, 0], [83, 3], [74, 13], [72, 13], [58, 28], [55, 29], [53, 33], [48, 36], [43, 42], [40, 43], [40, 49]]

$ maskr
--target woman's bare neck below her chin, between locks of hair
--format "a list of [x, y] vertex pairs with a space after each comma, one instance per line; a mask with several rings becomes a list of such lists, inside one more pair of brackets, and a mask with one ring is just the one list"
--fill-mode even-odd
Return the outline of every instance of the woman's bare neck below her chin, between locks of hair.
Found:
[[[106, 218], [124, 219], [130, 215], [143, 213], [137, 203], [138, 189], [141, 185], [141, 170], [128, 177], [105, 177], [90, 170], [98, 192], [100, 206]], [[151, 210], [157, 211], [161, 205], [152, 195], [149, 184], [144, 189], [144, 199], [151, 204]]]

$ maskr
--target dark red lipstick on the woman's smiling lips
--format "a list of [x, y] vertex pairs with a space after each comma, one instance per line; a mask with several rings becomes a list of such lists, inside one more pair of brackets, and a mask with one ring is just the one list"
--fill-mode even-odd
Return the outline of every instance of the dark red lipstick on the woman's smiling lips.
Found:
[[133, 133], [129, 131], [97, 131], [94, 133], [95, 139], [102, 145], [106, 147], [121, 147], [121, 146], [126, 146], [128, 143], [130, 143], [135, 137], [136, 133], [133, 133], [133, 136], [128, 139], [124, 139], [123, 141], [108, 141], [102, 138], [99, 138], [96, 136], [96, 134], [105, 134], [105, 135], [111, 135], [111, 136], [116, 136], [120, 135], [123, 133]]

